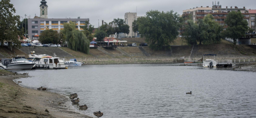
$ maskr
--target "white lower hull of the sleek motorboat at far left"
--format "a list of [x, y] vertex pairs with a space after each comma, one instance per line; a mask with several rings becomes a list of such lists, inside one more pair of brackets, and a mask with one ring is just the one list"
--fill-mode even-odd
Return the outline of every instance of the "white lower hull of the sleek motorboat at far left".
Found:
[[10, 63], [7, 70], [31, 70], [35, 63]]

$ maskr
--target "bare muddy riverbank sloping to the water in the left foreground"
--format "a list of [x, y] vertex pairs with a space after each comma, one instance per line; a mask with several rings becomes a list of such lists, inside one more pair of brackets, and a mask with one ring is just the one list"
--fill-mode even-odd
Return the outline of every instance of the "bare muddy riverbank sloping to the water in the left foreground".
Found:
[[76, 112], [64, 95], [24, 88], [13, 82], [20, 77], [28, 76], [0, 70], [0, 117], [92, 118]]

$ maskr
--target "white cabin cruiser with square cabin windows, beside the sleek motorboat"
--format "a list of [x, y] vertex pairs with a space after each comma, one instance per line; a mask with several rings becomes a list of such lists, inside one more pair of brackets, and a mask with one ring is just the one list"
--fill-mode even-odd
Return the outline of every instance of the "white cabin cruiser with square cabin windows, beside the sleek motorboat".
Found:
[[43, 56], [40, 61], [36, 61], [36, 69], [67, 69], [64, 62], [59, 61], [59, 57]]

